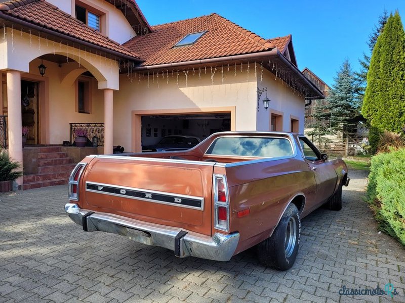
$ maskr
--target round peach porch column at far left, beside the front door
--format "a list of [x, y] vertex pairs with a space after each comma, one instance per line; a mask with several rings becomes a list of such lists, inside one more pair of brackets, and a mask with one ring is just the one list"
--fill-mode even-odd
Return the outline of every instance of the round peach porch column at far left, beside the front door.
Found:
[[[9, 155], [13, 161], [20, 162], [22, 169], [21, 73], [19, 71], [7, 71], [7, 98]], [[18, 178], [16, 182], [17, 186], [22, 185], [23, 178]]]

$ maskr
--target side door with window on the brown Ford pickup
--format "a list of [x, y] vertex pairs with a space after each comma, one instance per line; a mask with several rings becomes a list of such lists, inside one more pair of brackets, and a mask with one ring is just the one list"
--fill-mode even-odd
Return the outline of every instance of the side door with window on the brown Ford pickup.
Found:
[[300, 146], [305, 161], [314, 172], [316, 180], [316, 194], [314, 208], [325, 202], [336, 187], [337, 174], [332, 161], [322, 160], [320, 151], [306, 137], [299, 137]]

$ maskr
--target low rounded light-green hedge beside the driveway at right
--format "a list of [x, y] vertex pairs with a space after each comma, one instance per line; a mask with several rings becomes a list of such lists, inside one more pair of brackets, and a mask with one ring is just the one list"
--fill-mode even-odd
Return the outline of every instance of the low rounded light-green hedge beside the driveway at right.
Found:
[[405, 246], [405, 148], [371, 159], [367, 201], [380, 230]]

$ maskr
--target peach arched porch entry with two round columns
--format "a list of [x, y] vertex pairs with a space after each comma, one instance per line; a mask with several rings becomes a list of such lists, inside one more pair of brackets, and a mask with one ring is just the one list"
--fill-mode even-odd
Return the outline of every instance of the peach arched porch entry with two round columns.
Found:
[[[30, 83], [37, 86], [38, 143], [61, 144], [60, 138], [66, 137], [59, 133], [63, 127], [61, 124], [66, 121], [83, 122], [80, 121], [82, 117], [97, 117], [104, 120], [104, 153], [112, 154], [112, 104], [113, 90], [118, 89], [118, 62], [83, 51], [78, 44], [58, 43], [55, 47], [54, 42], [27, 33], [17, 35], [16, 30], [13, 35], [18, 38], [11, 41], [13, 35], [9, 28], [6, 31], [6, 39], [0, 42], [0, 46], [7, 50], [7, 56], [0, 58], [0, 70], [6, 74], [7, 83], [4, 95], [7, 96], [9, 155], [22, 163], [22, 110], [26, 107], [22, 83], [23, 87]], [[41, 62], [47, 67], [43, 76], [38, 70]], [[88, 77], [94, 79], [91, 85], [97, 99], [104, 99], [104, 104], [97, 104], [92, 113], [75, 111], [75, 83], [83, 73], [88, 73]], [[30, 91], [26, 94], [32, 95]], [[22, 178], [17, 180], [17, 184], [22, 185]]]

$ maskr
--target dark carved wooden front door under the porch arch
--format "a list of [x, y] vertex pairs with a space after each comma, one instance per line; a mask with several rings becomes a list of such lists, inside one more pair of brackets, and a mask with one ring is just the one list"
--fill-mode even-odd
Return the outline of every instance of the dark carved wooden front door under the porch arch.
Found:
[[26, 144], [39, 144], [39, 89], [38, 82], [21, 80], [22, 126], [29, 127]]

